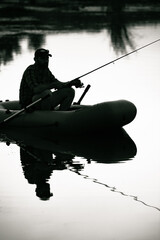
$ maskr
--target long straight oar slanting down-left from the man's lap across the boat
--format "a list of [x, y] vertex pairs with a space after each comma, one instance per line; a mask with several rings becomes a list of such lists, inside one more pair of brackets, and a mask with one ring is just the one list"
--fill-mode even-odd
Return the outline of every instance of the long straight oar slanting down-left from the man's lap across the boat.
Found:
[[34, 101], [33, 103], [29, 104], [28, 106], [22, 108], [20, 111], [12, 114], [11, 116], [9, 116], [8, 118], [5, 118], [2, 122], [0, 122], [0, 126], [5, 124], [6, 122], [12, 120], [13, 118], [17, 117], [18, 115], [20, 115], [21, 113], [27, 111], [28, 109], [30, 109], [31, 107], [35, 106], [37, 103], [41, 102], [42, 100], [44, 100], [45, 98], [47, 98], [49, 95], [46, 95], [44, 97], [41, 97], [39, 99], [37, 99], [36, 101]]

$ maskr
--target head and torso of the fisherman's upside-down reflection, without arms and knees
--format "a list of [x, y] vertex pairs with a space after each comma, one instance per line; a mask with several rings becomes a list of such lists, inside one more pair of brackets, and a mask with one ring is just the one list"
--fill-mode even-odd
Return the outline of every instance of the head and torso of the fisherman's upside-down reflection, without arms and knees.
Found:
[[47, 183], [54, 168], [52, 153], [28, 147], [27, 150], [20, 148], [20, 156], [25, 178], [30, 184], [36, 184], [37, 197], [49, 200], [53, 196]]

